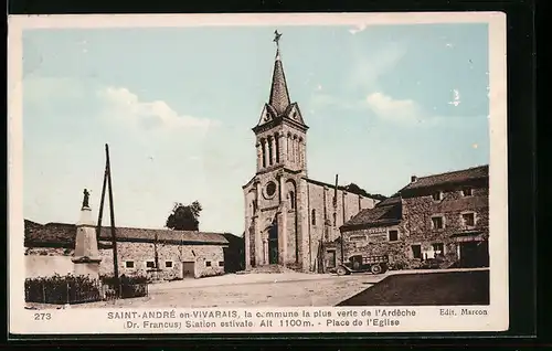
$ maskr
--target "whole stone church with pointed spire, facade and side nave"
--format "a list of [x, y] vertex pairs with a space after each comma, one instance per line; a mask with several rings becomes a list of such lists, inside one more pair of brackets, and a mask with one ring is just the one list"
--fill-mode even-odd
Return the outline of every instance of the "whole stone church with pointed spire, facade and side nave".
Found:
[[376, 199], [307, 176], [307, 130], [297, 103], [291, 103], [276, 32], [270, 95], [253, 128], [256, 173], [243, 187], [246, 268], [279, 265], [317, 272], [325, 242]]

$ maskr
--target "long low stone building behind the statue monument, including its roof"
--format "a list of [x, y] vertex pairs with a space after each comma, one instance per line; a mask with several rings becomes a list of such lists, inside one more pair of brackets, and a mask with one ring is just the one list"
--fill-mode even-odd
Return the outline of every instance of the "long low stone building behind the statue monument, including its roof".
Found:
[[[25, 220], [26, 277], [73, 273], [71, 258], [76, 226], [66, 223], [39, 224]], [[222, 275], [225, 270], [223, 234], [117, 227], [119, 274], [171, 280]], [[113, 275], [113, 247], [109, 227], [98, 238], [100, 275]]]

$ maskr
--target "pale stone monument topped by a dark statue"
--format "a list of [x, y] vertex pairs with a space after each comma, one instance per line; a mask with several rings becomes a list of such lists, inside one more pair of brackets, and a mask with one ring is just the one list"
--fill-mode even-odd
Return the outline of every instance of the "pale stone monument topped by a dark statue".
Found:
[[72, 260], [75, 264], [76, 276], [98, 279], [102, 258], [98, 252], [96, 226], [92, 220], [92, 210], [88, 203], [89, 195], [91, 193], [85, 189], [81, 219], [76, 223], [75, 253]]

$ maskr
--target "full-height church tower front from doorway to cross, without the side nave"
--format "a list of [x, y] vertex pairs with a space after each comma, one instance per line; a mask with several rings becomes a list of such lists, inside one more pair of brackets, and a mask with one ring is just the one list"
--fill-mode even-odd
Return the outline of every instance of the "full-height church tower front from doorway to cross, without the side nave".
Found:
[[289, 98], [280, 36], [275, 31], [270, 95], [253, 128], [256, 172], [243, 187], [246, 268], [297, 267], [304, 258], [308, 127], [299, 106]]

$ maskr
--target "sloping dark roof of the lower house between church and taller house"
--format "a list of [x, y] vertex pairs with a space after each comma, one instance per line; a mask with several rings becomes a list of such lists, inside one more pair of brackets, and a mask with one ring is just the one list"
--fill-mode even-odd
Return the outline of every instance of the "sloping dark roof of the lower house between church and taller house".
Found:
[[364, 226], [392, 225], [401, 221], [401, 198], [389, 198], [378, 203], [373, 209], [364, 209], [346, 222], [341, 230], [351, 231]]

